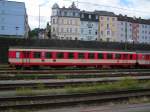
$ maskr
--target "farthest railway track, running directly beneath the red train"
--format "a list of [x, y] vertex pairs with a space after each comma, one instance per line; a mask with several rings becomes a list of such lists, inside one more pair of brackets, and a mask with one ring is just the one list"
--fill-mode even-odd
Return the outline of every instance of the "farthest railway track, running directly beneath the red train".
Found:
[[150, 69], [113, 69], [113, 70], [0, 70], [0, 74], [74, 74], [74, 73], [119, 73], [150, 72]]

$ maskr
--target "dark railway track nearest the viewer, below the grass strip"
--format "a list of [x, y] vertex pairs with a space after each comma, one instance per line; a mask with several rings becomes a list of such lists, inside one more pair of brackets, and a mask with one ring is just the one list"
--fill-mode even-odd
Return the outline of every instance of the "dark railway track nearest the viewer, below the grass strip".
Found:
[[0, 97], [0, 110], [56, 108], [62, 106], [75, 106], [78, 104], [124, 101], [130, 98], [145, 96], [150, 96], [150, 89], [63, 95]]

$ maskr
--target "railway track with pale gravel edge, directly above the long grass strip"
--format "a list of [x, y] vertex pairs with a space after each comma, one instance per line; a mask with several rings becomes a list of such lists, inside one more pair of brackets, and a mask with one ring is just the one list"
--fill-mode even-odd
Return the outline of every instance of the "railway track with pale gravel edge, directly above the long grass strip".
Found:
[[[150, 80], [150, 76], [133, 76], [133, 79], [139, 81]], [[81, 84], [108, 83], [116, 82], [124, 79], [124, 77], [108, 77], [108, 78], [89, 78], [89, 79], [47, 79], [47, 80], [14, 80], [0, 81], [0, 91], [16, 90], [19, 88], [38, 88], [38, 85], [43, 84], [45, 88], [62, 88], [65, 86], [79, 86]]]

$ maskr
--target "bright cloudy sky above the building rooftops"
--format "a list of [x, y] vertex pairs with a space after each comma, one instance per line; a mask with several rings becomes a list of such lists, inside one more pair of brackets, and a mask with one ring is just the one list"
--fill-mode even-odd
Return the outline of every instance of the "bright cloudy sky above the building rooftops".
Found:
[[[29, 25], [37, 28], [39, 25], [39, 5], [41, 12], [41, 28], [46, 26], [50, 21], [51, 7], [57, 3], [60, 7], [68, 7], [73, 0], [8, 0], [25, 2]], [[112, 11], [116, 14], [123, 14], [128, 16], [150, 18], [150, 0], [74, 0], [78, 8], [81, 10], [94, 11], [106, 10]]]

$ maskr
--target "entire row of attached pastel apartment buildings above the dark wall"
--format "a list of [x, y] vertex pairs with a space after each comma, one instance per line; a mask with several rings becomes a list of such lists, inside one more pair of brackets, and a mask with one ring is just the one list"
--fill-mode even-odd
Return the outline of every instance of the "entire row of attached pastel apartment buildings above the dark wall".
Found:
[[150, 20], [116, 15], [108, 11], [80, 11], [73, 3], [68, 8], [52, 7], [53, 39], [150, 43]]

